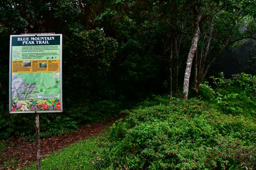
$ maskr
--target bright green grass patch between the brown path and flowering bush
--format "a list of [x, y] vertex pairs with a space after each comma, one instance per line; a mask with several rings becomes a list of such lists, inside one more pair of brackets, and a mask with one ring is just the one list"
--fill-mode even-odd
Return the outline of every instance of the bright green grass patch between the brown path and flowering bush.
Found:
[[[101, 149], [98, 147], [99, 141], [99, 137], [90, 137], [53, 152], [42, 159], [41, 170], [95, 170], [96, 161], [100, 159], [98, 155]], [[35, 170], [37, 164], [33, 163], [25, 169]]]

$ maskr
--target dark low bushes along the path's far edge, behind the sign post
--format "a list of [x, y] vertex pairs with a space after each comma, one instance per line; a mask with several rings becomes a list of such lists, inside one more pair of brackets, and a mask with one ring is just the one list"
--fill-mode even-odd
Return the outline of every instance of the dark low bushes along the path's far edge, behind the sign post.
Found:
[[[8, 108], [0, 112], [0, 139], [19, 137], [21, 140], [35, 140], [35, 116], [31, 113], [9, 114]], [[40, 114], [40, 137], [61, 135], [77, 130], [79, 126], [100, 122], [117, 116], [120, 103], [99, 101], [94, 103], [66, 105], [63, 113]]]

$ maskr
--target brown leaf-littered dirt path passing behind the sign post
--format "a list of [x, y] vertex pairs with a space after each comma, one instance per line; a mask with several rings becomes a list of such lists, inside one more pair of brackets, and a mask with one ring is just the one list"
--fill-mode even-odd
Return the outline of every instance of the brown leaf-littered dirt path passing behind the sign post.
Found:
[[[40, 158], [50, 155], [53, 151], [60, 150], [89, 136], [100, 135], [104, 130], [107, 130], [115, 120], [118, 120], [126, 115], [113, 117], [107, 122], [98, 124], [85, 125], [80, 131], [74, 131], [60, 136], [52, 136], [48, 139], [40, 139]], [[16, 162], [15, 166], [7, 167], [5, 162]], [[12, 140], [6, 146], [2, 157], [0, 157], [0, 170], [20, 169], [28, 166], [32, 162], [36, 162], [36, 142], [20, 142], [18, 139]]]

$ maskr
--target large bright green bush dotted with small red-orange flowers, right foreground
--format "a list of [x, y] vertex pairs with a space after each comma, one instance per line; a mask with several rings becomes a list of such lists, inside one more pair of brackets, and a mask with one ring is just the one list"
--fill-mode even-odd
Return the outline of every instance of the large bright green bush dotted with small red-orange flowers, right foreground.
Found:
[[[203, 101], [135, 109], [126, 123], [123, 139], [105, 145], [101, 168], [255, 168], [256, 123], [221, 114]], [[112, 136], [118, 135], [115, 127]]]

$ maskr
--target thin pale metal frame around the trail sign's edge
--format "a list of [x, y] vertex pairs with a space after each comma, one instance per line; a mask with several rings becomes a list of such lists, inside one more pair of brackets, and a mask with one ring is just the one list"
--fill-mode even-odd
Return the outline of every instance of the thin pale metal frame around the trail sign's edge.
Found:
[[[59, 70], [59, 80], [60, 80], [60, 95], [59, 95], [59, 101], [60, 101], [60, 109], [59, 110], [38, 110], [38, 111], [12, 111], [12, 67], [13, 67], [13, 56], [12, 56], [12, 52], [13, 52], [13, 37], [28, 37], [28, 39], [38, 39], [38, 38], [35, 38], [35, 37], [49, 37], [49, 36], [58, 36], [60, 37], [60, 44], [56, 44], [56, 45], [59, 45], [60, 46], [60, 60], [59, 60], [59, 65], [60, 65], [60, 70]], [[34, 37], [34, 38], [32, 38]], [[47, 41], [48, 42], [48, 41]], [[20, 42], [19, 42], [20, 43]], [[35, 43], [35, 42], [34, 42]], [[38, 43], [38, 42], [36, 42]], [[42, 43], [42, 42], [41, 42]], [[33, 44], [33, 46], [40, 46], [40, 44]], [[42, 45], [41, 45], [42, 46]], [[31, 61], [33, 61], [33, 59], [31, 59]], [[40, 66], [39, 66], [40, 67]], [[33, 74], [31, 72], [31, 74]], [[44, 97], [42, 97], [44, 98]], [[35, 99], [38, 99], [38, 100], [42, 100], [42, 98], [35, 98]], [[45, 97], [46, 98], [46, 97]], [[28, 99], [30, 100], [30, 99]], [[34, 100], [34, 99], [33, 99]], [[52, 33], [43, 33], [43, 34], [29, 34], [29, 35], [10, 35], [10, 54], [9, 54], [9, 113], [53, 113], [53, 112], [62, 112], [63, 111], [63, 102], [62, 102], [62, 34], [52, 34]]]

